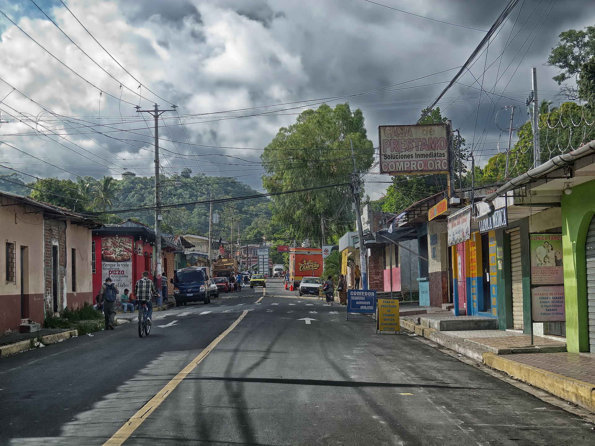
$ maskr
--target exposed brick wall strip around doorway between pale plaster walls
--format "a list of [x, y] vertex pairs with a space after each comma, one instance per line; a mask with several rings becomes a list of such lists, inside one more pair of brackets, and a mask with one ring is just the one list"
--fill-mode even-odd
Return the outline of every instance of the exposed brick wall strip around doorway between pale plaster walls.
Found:
[[[45, 276], [45, 311], [54, 313], [52, 296], [52, 246], [58, 242], [58, 312], [64, 308], [64, 284], [66, 274], [66, 222], [58, 220], [43, 221], [43, 269]], [[90, 247], [89, 247], [90, 248]]]

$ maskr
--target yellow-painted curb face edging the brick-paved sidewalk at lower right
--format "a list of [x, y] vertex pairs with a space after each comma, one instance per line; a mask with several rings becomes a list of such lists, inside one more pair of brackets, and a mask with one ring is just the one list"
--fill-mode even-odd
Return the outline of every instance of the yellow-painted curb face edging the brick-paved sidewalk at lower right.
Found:
[[512, 378], [595, 412], [595, 385], [593, 384], [522, 364], [494, 353], [484, 353], [483, 363], [500, 372], [505, 372]]

